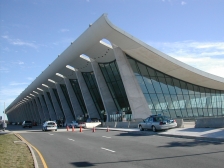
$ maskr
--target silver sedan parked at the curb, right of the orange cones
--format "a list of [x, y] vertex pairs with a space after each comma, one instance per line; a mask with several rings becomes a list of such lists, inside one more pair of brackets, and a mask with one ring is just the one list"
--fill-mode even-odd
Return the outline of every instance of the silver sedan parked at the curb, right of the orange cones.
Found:
[[170, 128], [175, 128], [177, 123], [174, 119], [171, 119], [163, 115], [151, 115], [150, 117], [143, 120], [143, 122], [138, 124], [140, 131], [145, 129], [151, 129], [156, 132], [157, 130], [167, 130]]

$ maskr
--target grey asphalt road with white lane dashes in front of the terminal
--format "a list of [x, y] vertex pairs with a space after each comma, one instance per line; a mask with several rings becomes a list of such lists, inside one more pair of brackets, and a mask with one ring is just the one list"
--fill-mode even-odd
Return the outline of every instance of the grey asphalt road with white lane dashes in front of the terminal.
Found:
[[157, 136], [150, 131], [18, 133], [43, 155], [49, 168], [223, 168], [224, 143]]

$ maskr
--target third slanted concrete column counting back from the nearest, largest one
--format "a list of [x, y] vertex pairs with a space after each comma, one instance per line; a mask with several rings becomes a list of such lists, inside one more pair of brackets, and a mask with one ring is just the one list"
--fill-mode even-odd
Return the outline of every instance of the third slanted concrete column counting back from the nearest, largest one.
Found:
[[96, 109], [96, 106], [93, 102], [93, 99], [92, 99], [90, 93], [89, 93], [89, 89], [86, 86], [85, 80], [84, 80], [81, 72], [76, 70], [75, 73], [78, 78], [80, 90], [82, 92], [82, 97], [84, 99], [89, 118], [100, 118], [99, 113]]

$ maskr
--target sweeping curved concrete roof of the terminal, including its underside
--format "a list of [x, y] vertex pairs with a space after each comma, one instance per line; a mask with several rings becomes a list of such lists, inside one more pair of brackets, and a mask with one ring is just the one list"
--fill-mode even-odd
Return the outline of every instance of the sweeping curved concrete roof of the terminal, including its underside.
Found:
[[[61, 53], [6, 109], [10, 110], [24, 97], [34, 90], [44, 88], [42, 84], [55, 87], [48, 79], [58, 83], [64, 83], [62, 78], [55, 74], [60, 73], [68, 78], [75, 79], [75, 73], [66, 68], [71, 65], [82, 72], [92, 71], [91, 64], [80, 58], [81, 54], [88, 55], [97, 62], [109, 62], [114, 60], [111, 47], [102, 45], [100, 40], [107, 39], [112, 44], [119, 46], [129, 56], [143, 62], [161, 72], [189, 83], [208, 88], [224, 90], [224, 78], [203, 72], [180, 62], [138, 40], [113, 25], [107, 15], [103, 14], [84, 33], [82, 33], [71, 45]], [[40, 92], [40, 91], [38, 91]]]

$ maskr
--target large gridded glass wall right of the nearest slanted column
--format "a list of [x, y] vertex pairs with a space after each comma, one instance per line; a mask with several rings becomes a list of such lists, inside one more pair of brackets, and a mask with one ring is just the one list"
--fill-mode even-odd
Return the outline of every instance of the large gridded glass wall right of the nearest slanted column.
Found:
[[224, 91], [176, 79], [127, 58], [153, 114], [172, 118], [224, 116]]

